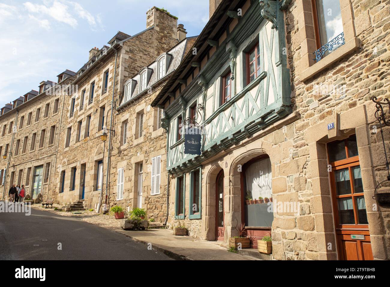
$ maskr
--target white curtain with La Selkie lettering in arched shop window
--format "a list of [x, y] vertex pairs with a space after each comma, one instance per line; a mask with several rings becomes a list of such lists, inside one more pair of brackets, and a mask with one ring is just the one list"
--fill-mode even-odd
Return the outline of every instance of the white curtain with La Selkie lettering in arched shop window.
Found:
[[272, 171], [269, 158], [251, 164], [245, 171], [246, 194], [252, 199], [272, 197]]

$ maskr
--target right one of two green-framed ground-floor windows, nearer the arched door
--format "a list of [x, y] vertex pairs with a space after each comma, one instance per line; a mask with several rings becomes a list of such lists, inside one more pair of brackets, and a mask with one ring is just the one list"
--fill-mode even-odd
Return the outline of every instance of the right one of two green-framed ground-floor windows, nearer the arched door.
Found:
[[190, 173], [190, 219], [200, 219], [202, 214], [202, 169]]

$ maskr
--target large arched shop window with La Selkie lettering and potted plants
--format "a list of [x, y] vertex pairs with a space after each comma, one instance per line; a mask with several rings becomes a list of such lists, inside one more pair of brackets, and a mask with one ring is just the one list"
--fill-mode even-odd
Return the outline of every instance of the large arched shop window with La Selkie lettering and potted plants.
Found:
[[245, 226], [270, 227], [273, 221], [272, 170], [269, 157], [259, 157], [243, 166]]

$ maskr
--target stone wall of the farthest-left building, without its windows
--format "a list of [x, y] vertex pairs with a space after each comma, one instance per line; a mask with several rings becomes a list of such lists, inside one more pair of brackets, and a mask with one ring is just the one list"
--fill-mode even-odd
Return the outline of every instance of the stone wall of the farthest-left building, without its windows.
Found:
[[[66, 79], [61, 83], [60, 86], [68, 84], [73, 78]], [[58, 111], [54, 112], [55, 100], [59, 99]], [[0, 124], [3, 127], [7, 124], [7, 131], [4, 137], [0, 138], [0, 146], [2, 146], [2, 154], [4, 154], [5, 144], [9, 144], [7, 159], [1, 157], [0, 160], [0, 169], [7, 168], [8, 160], [9, 161], [9, 170], [7, 172], [7, 178], [5, 179], [5, 185], [0, 187], [1, 194], [3, 195], [3, 189], [5, 189], [5, 198], [8, 195], [8, 190], [10, 188], [11, 173], [14, 172], [14, 183], [25, 185], [27, 194], [32, 194], [33, 189], [33, 175], [34, 168], [37, 166], [43, 165], [43, 187], [42, 195], [44, 199], [53, 198], [57, 199], [57, 193], [53, 192], [56, 187], [56, 182], [54, 180], [54, 175], [57, 165], [57, 151], [58, 151], [58, 138], [60, 137], [60, 127], [61, 127], [61, 116], [62, 116], [62, 105], [64, 97], [60, 93], [43, 93], [41, 95], [35, 96], [31, 100], [23, 103], [12, 111], [4, 114], [0, 117]], [[45, 107], [46, 104], [50, 103], [48, 116], [45, 117]], [[40, 117], [39, 121], [35, 121], [35, 116], [37, 109], [40, 108]], [[31, 123], [28, 125], [28, 114], [32, 112]], [[18, 117], [16, 118], [16, 115]], [[21, 117], [24, 116], [23, 127], [20, 127]], [[14, 131], [8, 134], [8, 127], [13, 121]], [[49, 137], [51, 127], [55, 125], [55, 137], [53, 144], [50, 144]], [[41, 131], [46, 129], [44, 137], [44, 145], [39, 147], [39, 142], [41, 139]], [[36, 133], [35, 139], [35, 149], [31, 150], [31, 141], [32, 135]], [[12, 144], [12, 136], [14, 135], [14, 140]], [[24, 139], [28, 137], [26, 152], [23, 153]], [[16, 155], [16, 143], [20, 140], [19, 153]], [[48, 177], [46, 177], [46, 167], [47, 164], [50, 164]], [[21, 171], [21, 178], [19, 178]], [[27, 175], [28, 173], [29, 176]], [[28, 176], [28, 178], [27, 178]], [[47, 178], [47, 180], [46, 180]]]

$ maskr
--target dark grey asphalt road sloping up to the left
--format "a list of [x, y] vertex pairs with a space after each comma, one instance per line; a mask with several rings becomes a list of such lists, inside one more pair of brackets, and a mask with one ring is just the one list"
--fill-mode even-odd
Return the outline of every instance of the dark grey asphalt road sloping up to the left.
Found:
[[103, 227], [31, 209], [30, 216], [0, 212], [0, 260], [172, 259]]

